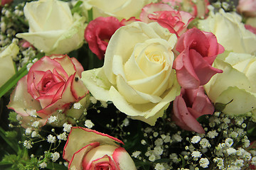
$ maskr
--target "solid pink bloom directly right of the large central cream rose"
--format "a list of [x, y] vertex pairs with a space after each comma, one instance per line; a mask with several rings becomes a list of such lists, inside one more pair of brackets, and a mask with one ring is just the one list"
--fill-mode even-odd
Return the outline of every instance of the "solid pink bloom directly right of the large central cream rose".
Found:
[[180, 52], [174, 60], [178, 83], [184, 89], [198, 89], [216, 73], [223, 72], [212, 67], [218, 54], [224, 52], [213, 33], [192, 28], [178, 38], [176, 50]]

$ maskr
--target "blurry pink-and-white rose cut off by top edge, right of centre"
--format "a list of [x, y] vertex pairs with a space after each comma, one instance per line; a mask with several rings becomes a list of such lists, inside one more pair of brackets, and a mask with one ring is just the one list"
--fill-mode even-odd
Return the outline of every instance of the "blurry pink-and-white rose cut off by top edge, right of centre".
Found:
[[162, 0], [161, 3], [169, 4], [174, 8], [178, 7], [178, 11], [186, 11], [193, 17], [199, 18], [206, 16], [209, 12], [207, 6], [210, 5], [208, 0]]

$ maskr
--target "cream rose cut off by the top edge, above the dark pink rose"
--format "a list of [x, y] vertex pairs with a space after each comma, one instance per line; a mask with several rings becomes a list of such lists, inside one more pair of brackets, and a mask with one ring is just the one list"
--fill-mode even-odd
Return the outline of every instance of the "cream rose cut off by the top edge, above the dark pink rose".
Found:
[[143, 6], [152, 0], [83, 0], [85, 10], [92, 8], [93, 18], [114, 16], [118, 19], [139, 18]]

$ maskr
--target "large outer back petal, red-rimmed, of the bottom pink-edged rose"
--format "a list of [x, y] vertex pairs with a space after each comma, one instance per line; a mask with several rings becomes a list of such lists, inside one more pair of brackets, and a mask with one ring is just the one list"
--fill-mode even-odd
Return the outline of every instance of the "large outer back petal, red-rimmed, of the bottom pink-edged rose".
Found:
[[[71, 160], [75, 152], [93, 142], [100, 142], [100, 145], [113, 145], [116, 147], [119, 147], [116, 142], [124, 144], [121, 140], [110, 135], [97, 132], [96, 130], [73, 127], [71, 128], [70, 135], [68, 135], [68, 141], [66, 142], [63, 150], [63, 159]], [[66, 152], [68, 152], [68, 154]]]

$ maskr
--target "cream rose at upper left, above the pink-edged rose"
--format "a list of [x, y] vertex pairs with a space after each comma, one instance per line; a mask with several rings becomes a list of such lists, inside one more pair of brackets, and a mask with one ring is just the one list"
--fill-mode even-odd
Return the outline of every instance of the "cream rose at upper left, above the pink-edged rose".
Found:
[[17, 38], [30, 42], [47, 54], [65, 54], [78, 49], [84, 40], [85, 18], [71, 13], [67, 2], [58, 0], [33, 1], [26, 4], [28, 33]]

